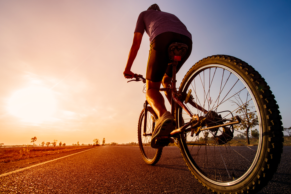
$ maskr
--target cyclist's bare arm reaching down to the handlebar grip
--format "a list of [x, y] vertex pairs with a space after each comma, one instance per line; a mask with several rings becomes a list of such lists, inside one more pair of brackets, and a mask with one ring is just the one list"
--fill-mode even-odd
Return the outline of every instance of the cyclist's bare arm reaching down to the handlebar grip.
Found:
[[123, 74], [131, 75], [131, 76], [124, 76], [127, 79], [133, 78], [134, 73], [131, 72], [131, 67], [132, 67], [134, 59], [136, 58], [137, 52], [139, 51], [139, 47], [141, 46], [142, 38], [143, 38], [143, 35], [141, 33], [139, 32], [134, 33], [132, 46], [130, 48], [125, 70], [123, 72]]

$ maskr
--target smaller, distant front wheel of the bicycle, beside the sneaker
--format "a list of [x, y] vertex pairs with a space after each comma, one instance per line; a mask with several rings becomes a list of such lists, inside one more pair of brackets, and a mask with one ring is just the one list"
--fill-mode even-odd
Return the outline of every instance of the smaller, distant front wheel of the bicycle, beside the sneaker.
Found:
[[150, 165], [155, 165], [159, 161], [163, 150], [163, 148], [155, 149], [150, 146], [152, 132], [155, 129], [155, 122], [157, 119], [157, 114], [150, 106], [145, 107], [139, 116], [139, 149], [143, 160]]

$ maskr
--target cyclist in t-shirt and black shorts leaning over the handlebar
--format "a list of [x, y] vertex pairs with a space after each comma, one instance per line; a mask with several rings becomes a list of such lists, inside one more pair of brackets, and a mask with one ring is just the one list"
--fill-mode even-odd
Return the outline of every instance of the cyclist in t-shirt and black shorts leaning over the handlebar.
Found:
[[[178, 17], [162, 12], [157, 4], [151, 5], [148, 10], [140, 13], [136, 23], [132, 47], [123, 72], [127, 79], [133, 78], [134, 73], [131, 71], [131, 67], [141, 45], [144, 31], [150, 37], [150, 53], [146, 71], [146, 99], [158, 116], [152, 134], [151, 147], [162, 148], [168, 143], [164, 144], [157, 137], [169, 136], [176, 126], [173, 116], [166, 109], [164, 97], [159, 92], [161, 83], [165, 88], [171, 84], [173, 66], [168, 65], [168, 47], [173, 42], [184, 43], [188, 46], [186, 55], [178, 63], [178, 72], [191, 54], [192, 37]], [[171, 104], [171, 92], [165, 92], [165, 95]]]

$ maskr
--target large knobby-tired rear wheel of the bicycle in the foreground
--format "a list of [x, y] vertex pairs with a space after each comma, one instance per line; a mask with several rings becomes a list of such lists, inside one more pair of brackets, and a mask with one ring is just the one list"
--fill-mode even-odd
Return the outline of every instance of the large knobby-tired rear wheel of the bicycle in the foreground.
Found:
[[[204, 110], [217, 113], [214, 119], [219, 117], [230, 122], [235, 115], [241, 118], [249, 115], [249, 120], [245, 119], [244, 123], [229, 126], [233, 136], [246, 136], [246, 128], [239, 127], [258, 118], [257, 123], [254, 121], [255, 127], [249, 129], [250, 141], [254, 141], [250, 145], [242, 139], [219, 145], [207, 138], [219, 137], [223, 134], [222, 128], [201, 131], [193, 137], [191, 131], [180, 134], [178, 143], [189, 170], [215, 193], [255, 193], [261, 190], [276, 172], [283, 151], [281, 115], [265, 80], [240, 59], [214, 55], [198, 61], [184, 76], [179, 93], [185, 94], [189, 89], [192, 90], [193, 102]], [[189, 103], [186, 105], [192, 114], [201, 118], [210, 113]], [[185, 123], [190, 120], [179, 105], [175, 107], [175, 118], [178, 127], [182, 126], [183, 119]], [[251, 137], [254, 129], [259, 132], [258, 138]]]

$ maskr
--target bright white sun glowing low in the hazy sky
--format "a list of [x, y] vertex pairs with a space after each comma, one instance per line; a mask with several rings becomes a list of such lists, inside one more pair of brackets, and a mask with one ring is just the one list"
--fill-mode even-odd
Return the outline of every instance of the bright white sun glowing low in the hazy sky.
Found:
[[53, 92], [47, 88], [25, 88], [12, 95], [8, 110], [23, 121], [39, 123], [48, 120], [56, 111], [56, 100]]

